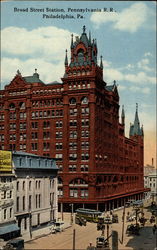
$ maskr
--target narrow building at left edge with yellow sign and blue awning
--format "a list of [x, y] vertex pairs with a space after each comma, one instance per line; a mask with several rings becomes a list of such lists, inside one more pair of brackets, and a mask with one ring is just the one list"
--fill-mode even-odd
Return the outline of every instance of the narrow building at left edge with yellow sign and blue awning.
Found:
[[9, 240], [20, 235], [14, 215], [15, 189], [11, 152], [0, 150], [0, 239]]

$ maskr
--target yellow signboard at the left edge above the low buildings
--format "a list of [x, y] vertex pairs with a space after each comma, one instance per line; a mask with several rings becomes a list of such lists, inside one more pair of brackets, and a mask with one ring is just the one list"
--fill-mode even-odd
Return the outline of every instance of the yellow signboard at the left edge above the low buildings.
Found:
[[10, 172], [12, 170], [11, 152], [0, 150], [0, 172]]

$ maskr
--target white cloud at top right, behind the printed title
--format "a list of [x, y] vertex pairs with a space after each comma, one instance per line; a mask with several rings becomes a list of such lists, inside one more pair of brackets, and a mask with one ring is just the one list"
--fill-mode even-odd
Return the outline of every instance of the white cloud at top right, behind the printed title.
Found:
[[129, 8], [123, 9], [119, 13], [93, 13], [91, 21], [99, 27], [101, 24], [112, 23], [112, 27], [116, 30], [136, 32], [146, 23], [149, 8], [144, 3], [134, 3]]

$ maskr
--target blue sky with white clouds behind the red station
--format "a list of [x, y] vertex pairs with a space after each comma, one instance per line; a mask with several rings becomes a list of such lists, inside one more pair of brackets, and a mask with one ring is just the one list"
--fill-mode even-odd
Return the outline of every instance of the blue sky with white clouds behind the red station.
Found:
[[118, 85], [126, 136], [138, 103], [145, 164], [151, 164], [152, 158], [156, 162], [155, 1], [1, 2], [1, 89], [18, 69], [28, 76], [37, 68], [43, 82], [61, 82], [71, 34], [80, 35], [83, 25], [97, 39], [104, 81], [111, 85], [116, 80]]

